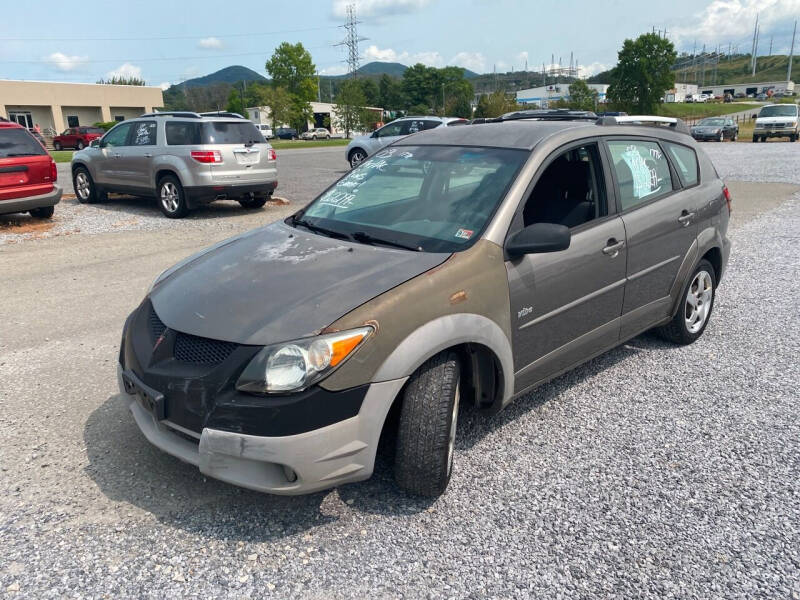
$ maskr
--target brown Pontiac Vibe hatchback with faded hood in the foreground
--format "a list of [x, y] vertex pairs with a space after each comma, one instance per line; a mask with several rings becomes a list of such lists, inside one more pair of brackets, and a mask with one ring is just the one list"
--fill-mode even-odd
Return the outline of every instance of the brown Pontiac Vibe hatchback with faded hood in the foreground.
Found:
[[730, 252], [711, 161], [676, 119], [546, 113], [398, 139], [159, 275], [119, 351], [145, 437], [276, 494], [366, 479], [395, 439], [398, 484], [436, 496], [460, 404], [651, 328], [697, 340]]

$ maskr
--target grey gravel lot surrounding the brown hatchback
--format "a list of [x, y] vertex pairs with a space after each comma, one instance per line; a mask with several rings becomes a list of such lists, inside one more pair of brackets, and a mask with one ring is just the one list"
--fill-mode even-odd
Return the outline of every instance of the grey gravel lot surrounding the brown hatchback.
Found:
[[800, 598], [800, 144], [705, 147], [753, 183], [731, 185], [703, 338], [640, 336], [500, 415], [465, 410], [434, 502], [398, 493], [386, 461], [283, 498], [144, 440], [115, 393], [122, 320], [230, 217], [6, 245], [0, 595]]

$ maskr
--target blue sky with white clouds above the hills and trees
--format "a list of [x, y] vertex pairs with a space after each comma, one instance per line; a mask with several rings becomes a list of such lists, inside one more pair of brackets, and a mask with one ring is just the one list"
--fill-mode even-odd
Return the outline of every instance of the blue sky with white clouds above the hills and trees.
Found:
[[[323, 74], [345, 70], [340, 25], [353, 0], [112, 2], [34, 0], [3, 11], [0, 78], [93, 82], [114, 73], [177, 83], [232, 64], [264, 74], [282, 41], [302, 42]], [[787, 53], [800, 0], [358, 0], [363, 62], [457, 64], [477, 72], [541, 68], [570, 52], [591, 74], [612, 66], [626, 37], [666, 29], [679, 49]], [[76, 25], [71, 25], [71, 24]], [[50, 25], [52, 24], [52, 25]], [[800, 52], [800, 41], [796, 46]]]

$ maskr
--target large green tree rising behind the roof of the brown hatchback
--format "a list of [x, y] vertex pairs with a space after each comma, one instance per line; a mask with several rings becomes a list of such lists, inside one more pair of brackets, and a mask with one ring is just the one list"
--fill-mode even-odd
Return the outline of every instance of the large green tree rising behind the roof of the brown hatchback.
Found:
[[622, 110], [653, 114], [668, 89], [675, 86], [672, 42], [655, 33], [625, 40], [611, 70], [608, 99]]

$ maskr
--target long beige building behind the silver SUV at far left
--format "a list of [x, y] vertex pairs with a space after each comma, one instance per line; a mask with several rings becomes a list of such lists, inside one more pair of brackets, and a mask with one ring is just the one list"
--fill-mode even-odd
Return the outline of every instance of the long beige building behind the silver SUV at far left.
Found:
[[123, 121], [164, 105], [161, 88], [0, 80], [0, 116], [60, 133], [98, 121]]

